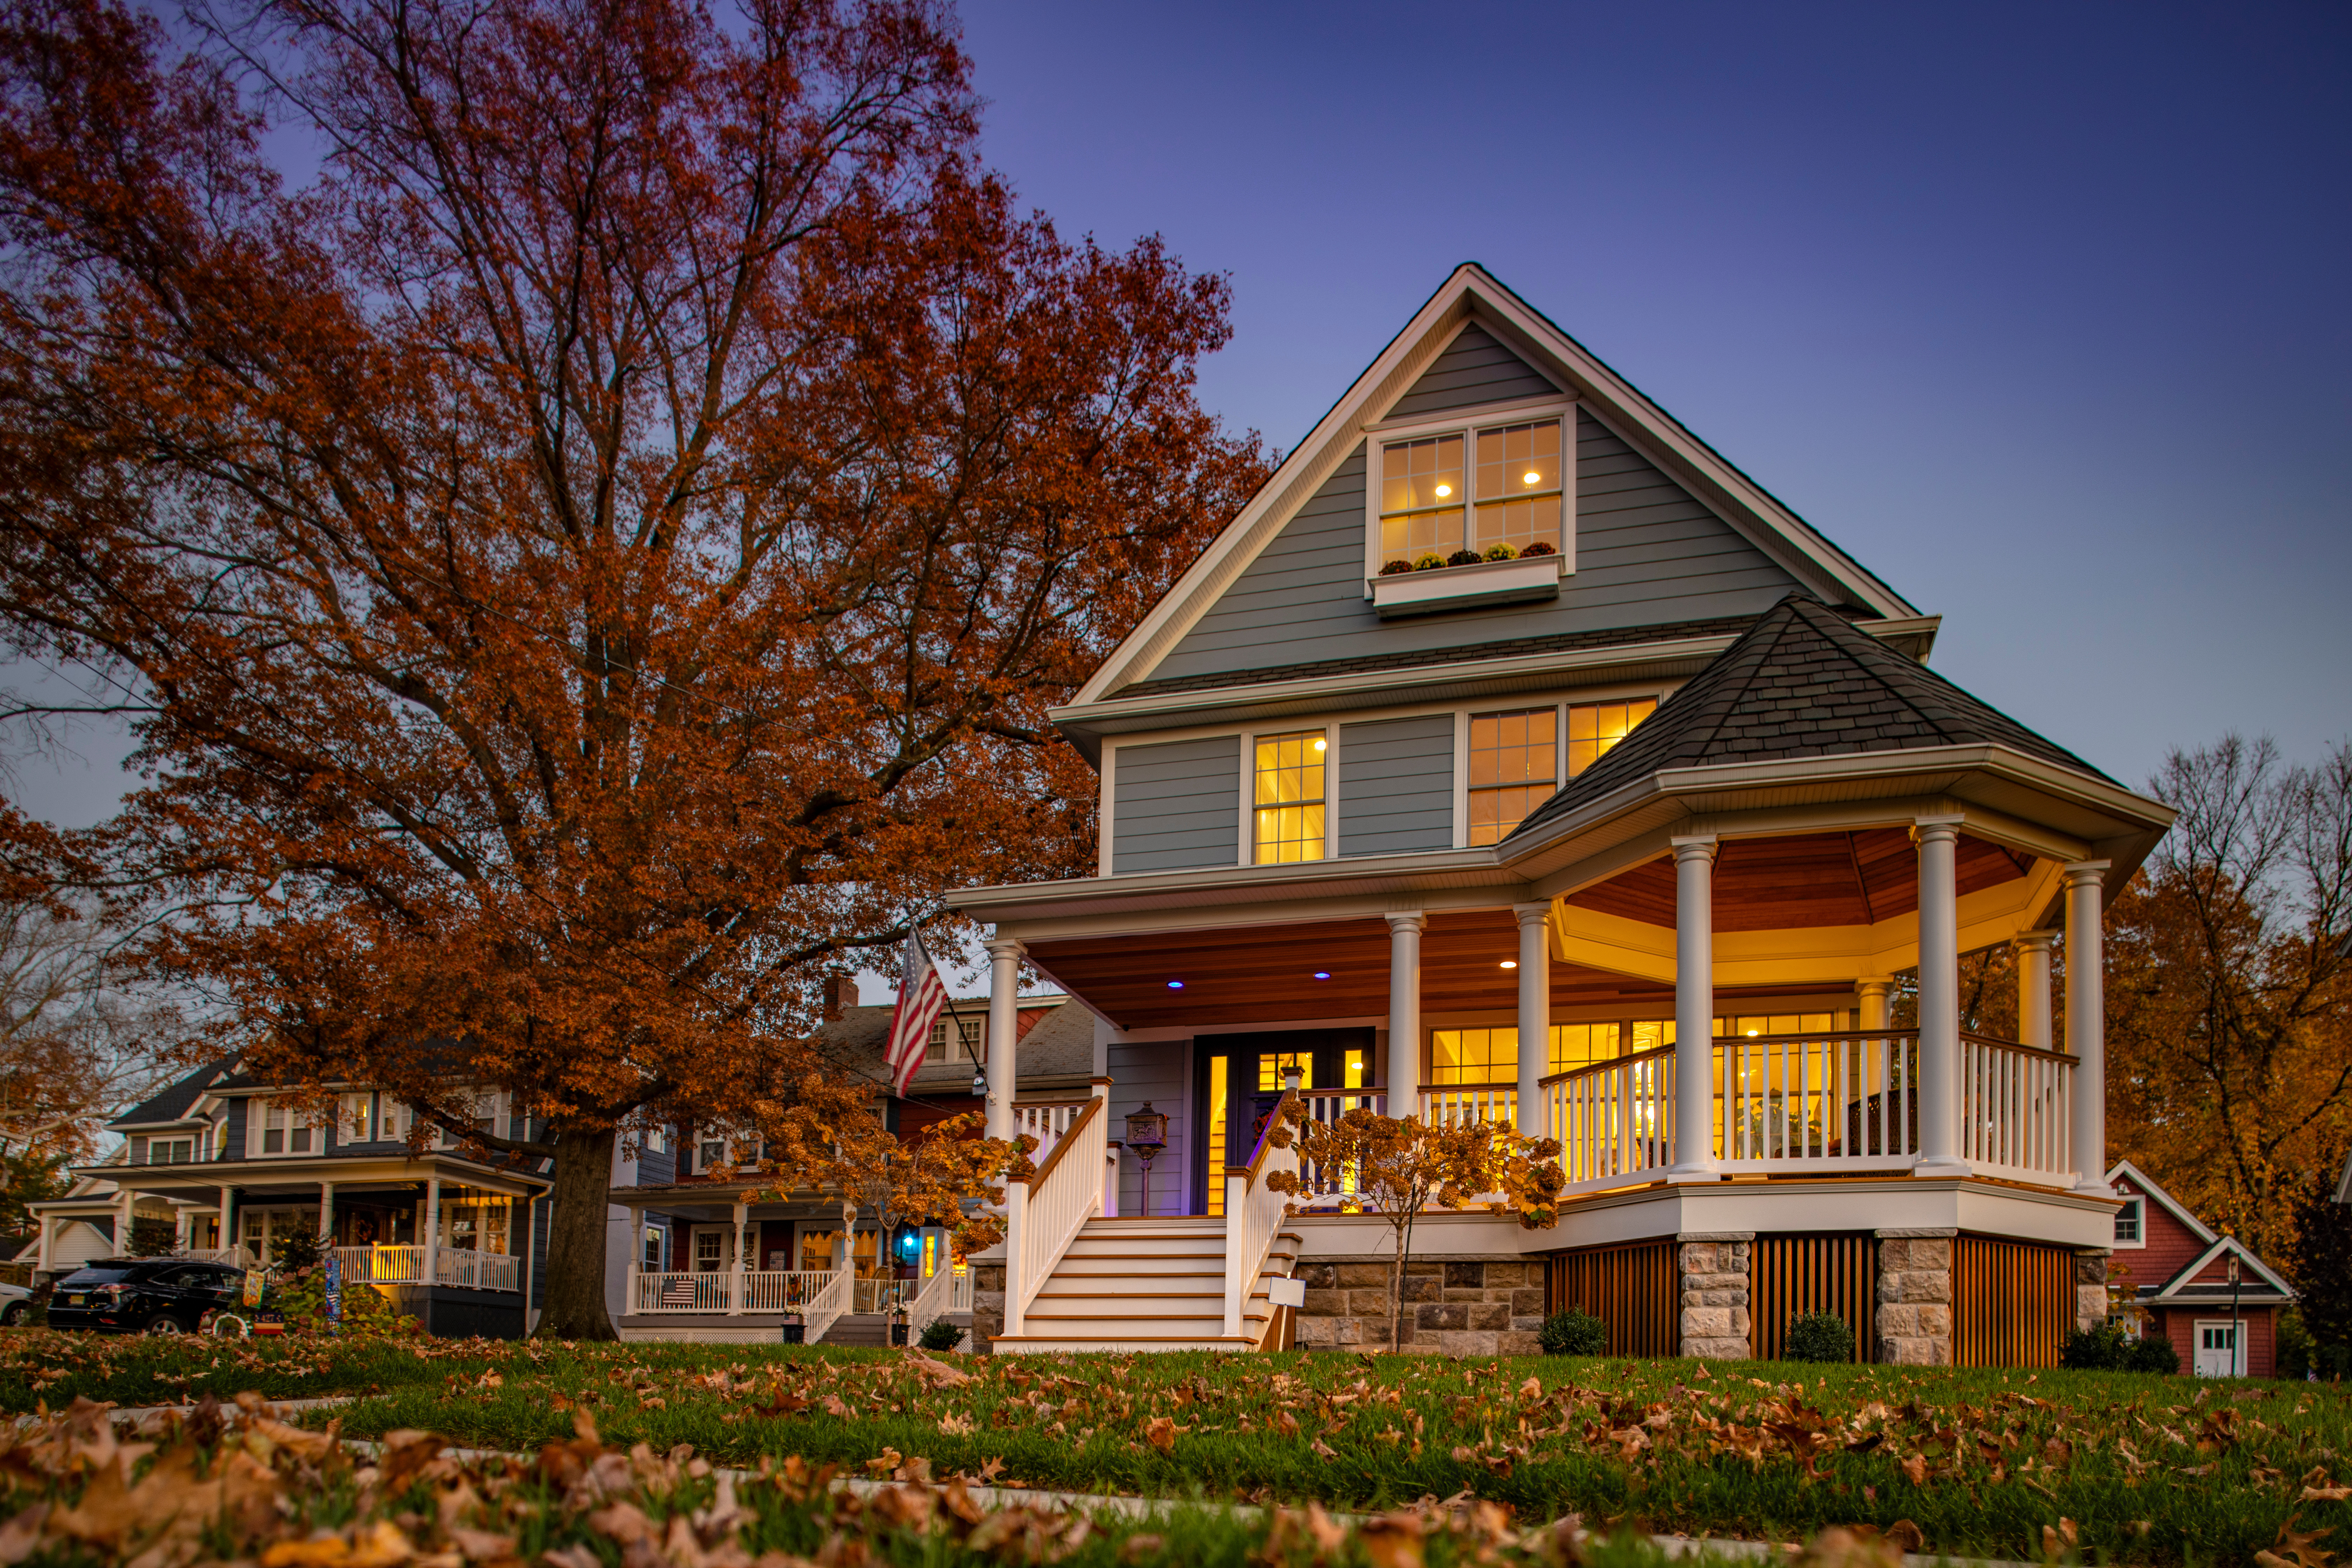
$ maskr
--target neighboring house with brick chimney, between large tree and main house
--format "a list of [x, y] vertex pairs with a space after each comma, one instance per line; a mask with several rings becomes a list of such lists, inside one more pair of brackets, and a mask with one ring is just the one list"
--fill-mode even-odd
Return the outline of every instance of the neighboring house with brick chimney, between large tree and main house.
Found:
[[[1065, 997], [1023, 997], [1014, 1039], [1023, 1105], [1016, 1124], [1042, 1140], [1068, 1126], [1089, 1095], [1094, 1016]], [[891, 1006], [856, 1006], [847, 978], [835, 983], [828, 1020], [814, 1034], [828, 1070], [873, 1084], [882, 1114], [901, 1138], [922, 1135], [950, 1117], [981, 1112], [974, 1072], [990, 1056], [988, 1004], [960, 999], [931, 1027], [924, 1065], [908, 1095], [887, 1095]], [[713, 1175], [713, 1171], [722, 1171]], [[882, 1342], [887, 1316], [924, 1300], [927, 1316], [969, 1321], [971, 1276], [957, 1269], [948, 1232], [863, 1208], [842, 1229], [842, 1199], [814, 1190], [774, 1194], [788, 1182], [727, 1135], [684, 1128], [621, 1154], [612, 1201], [612, 1314], [623, 1340], [776, 1340], [786, 1316], [802, 1319], [811, 1342]], [[840, 1284], [835, 1286], [835, 1279]], [[924, 1286], [938, 1284], [934, 1298]], [[833, 1295], [828, 1295], [833, 1288]]]

